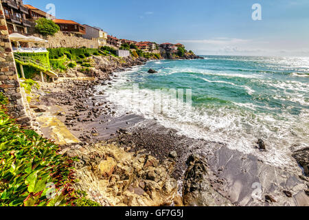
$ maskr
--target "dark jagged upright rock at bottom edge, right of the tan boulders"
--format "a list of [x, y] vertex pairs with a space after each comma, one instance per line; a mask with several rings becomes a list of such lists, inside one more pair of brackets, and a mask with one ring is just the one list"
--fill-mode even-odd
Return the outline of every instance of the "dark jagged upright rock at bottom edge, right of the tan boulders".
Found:
[[212, 188], [205, 159], [190, 155], [187, 166], [183, 182], [185, 206], [232, 206], [228, 199]]

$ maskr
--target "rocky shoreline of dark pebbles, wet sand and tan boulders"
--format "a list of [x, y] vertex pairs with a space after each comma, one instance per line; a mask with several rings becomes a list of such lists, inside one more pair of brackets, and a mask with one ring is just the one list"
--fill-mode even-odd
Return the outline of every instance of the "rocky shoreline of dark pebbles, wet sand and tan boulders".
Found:
[[[62, 153], [80, 159], [77, 189], [102, 206], [309, 206], [305, 173], [266, 165], [225, 144], [177, 135], [139, 115], [115, 117], [117, 109], [95, 87], [111, 85], [117, 72], [145, 62], [97, 58], [88, 73], [92, 80], [64, 78], [36, 91], [33, 118], [54, 115], [80, 140], [61, 146]], [[36, 124], [53, 138], [50, 128]], [[295, 157], [308, 158], [308, 152]], [[308, 159], [297, 160], [308, 166]]]

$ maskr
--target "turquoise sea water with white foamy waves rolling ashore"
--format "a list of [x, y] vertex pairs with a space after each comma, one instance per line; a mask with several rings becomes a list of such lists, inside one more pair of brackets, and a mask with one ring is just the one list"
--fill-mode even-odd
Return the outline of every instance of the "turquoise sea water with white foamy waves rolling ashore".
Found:
[[[288, 162], [291, 149], [309, 146], [309, 57], [203, 57], [150, 61], [117, 74], [106, 94], [122, 113], [246, 153], [262, 138], [269, 150], [264, 157], [278, 165]], [[158, 73], [148, 74], [150, 68]], [[175, 107], [170, 100], [176, 97], [163, 92], [163, 111], [156, 112], [155, 89], [192, 89], [192, 107]]]

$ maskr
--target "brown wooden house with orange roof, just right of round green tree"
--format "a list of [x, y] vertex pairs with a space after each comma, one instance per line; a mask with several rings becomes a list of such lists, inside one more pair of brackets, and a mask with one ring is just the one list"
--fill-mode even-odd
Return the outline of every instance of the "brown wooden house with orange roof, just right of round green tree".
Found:
[[86, 34], [86, 28], [75, 21], [64, 19], [54, 19], [53, 21], [60, 27], [60, 31], [63, 34], [71, 34], [78, 37], [82, 37]]

